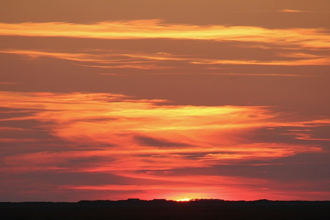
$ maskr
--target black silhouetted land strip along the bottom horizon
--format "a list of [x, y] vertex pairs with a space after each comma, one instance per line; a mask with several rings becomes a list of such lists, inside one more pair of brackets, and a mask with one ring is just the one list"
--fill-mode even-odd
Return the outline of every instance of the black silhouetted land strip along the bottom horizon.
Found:
[[330, 201], [0, 203], [0, 220], [330, 220]]

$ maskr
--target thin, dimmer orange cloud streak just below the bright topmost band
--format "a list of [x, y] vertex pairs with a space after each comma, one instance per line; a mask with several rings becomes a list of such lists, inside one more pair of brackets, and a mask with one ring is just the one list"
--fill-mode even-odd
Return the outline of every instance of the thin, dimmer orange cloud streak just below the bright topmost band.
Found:
[[[278, 60], [249, 60], [249, 59], [210, 59], [189, 55], [176, 55], [164, 52], [130, 52], [130, 51], [84, 51], [67, 53], [59, 51], [35, 51], [35, 50], [1, 50], [0, 53], [18, 54], [33, 59], [38, 57], [51, 57], [75, 61], [76, 65], [90, 68], [135, 68], [135, 69], [175, 69], [198, 66], [216, 65], [263, 65], [263, 66], [317, 66], [330, 65], [330, 57], [326, 55], [314, 55], [303, 52], [281, 52], [274, 54]], [[283, 59], [284, 58], [284, 59]], [[291, 58], [291, 59], [287, 59]], [[204, 67], [212, 69], [212, 67]], [[206, 74], [207, 72], [205, 72]]]

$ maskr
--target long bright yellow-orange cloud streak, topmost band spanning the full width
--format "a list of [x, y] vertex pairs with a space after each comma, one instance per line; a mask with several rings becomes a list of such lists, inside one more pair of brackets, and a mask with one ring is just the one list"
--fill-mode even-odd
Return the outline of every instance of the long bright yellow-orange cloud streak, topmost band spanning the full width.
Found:
[[167, 24], [161, 20], [110, 21], [95, 24], [0, 23], [0, 35], [99, 39], [169, 38], [267, 43], [290, 47], [330, 48], [329, 30], [265, 29], [251, 26]]

